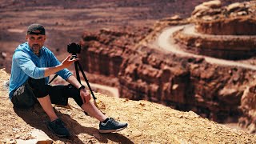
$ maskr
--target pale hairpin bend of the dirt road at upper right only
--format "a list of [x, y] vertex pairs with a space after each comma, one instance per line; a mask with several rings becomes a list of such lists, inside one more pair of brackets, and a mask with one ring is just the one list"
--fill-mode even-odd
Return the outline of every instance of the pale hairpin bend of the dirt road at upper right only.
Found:
[[161, 34], [159, 34], [157, 38], [157, 44], [160, 46], [163, 50], [172, 52], [174, 54], [180, 54], [182, 56], [190, 56], [194, 58], [204, 58], [206, 62], [209, 63], [214, 63], [218, 65], [224, 65], [224, 66], [238, 66], [242, 67], [245, 69], [250, 69], [250, 70], [256, 70], [256, 66], [242, 63], [242, 62], [235, 62], [235, 61], [230, 61], [230, 60], [224, 60], [224, 59], [219, 59], [219, 58], [212, 58], [208, 56], [203, 56], [203, 55], [198, 55], [198, 54], [191, 54], [187, 53], [179, 48], [177, 44], [174, 43], [174, 39], [172, 38], [172, 34], [177, 31], [181, 30], [184, 28], [184, 32], [189, 33], [189, 34], [195, 34], [193, 25], [182, 25], [182, 26], [173, 26], [173, 27], [168, 27], [164, 30], [162, 30]]

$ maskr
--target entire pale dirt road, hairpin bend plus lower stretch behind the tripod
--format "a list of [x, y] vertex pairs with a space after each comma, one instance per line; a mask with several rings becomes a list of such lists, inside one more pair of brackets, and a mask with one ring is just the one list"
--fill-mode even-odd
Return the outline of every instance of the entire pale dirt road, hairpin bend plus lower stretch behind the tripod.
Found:
[[[178, 46], [178, 44], [175, 44], [174, 38], [172, 38], [172, 34], [177, 31], [183, 29], [183, 32], [186, 34], [197, 34], [194, 31], [194, 26], [192, 24], [189, 25], [182, 25], [182, 26], [172, 26], [172, 27], [167, 27], [166, 29], [162, 30], [162, 32], [158, 35], [157, 42], [156, 44], [162, 48], [162, 50], [165, 50], [167, 52], [172, 52], [174, 54], [179, 54], [182, 56], [189, 56], [189, 57], [194, 57], [194, 58], [204, 58], [206, 62], [209, 63], [214, 63], [222, 66], [238, 66], [242, 67], [245, 69], [250, 69], [250, 70], [256, 70], [256, 66], [242, 63], [242, 62], [235, 62], [235, 61], [230, 61], [230, 60], [225, 60], [225, 59], [219, 59], [219, 58], [212, 58], [204, 55], [198, 55], [198, 54], [191, 54], [187, 53], [183, 50], [181, 50]], [[209, 36], [209, 34], [204, 34], [204, 36]], [[222, 36], [223, 37], [223, 36]], [[238, 36], [231, 36], [231, 37], [238, 37]], [[243, 36], [245, 37], [245, 36]], [[82, 82], [86, 86], [86, 82]], [[119, 97], [118, 89], [115, 87], [111, 86], [103, 86], [95, 83], [90, 83], [90, 85], [94, 88], [108, 91], [108, 95], [113, 96], [113, 97]]]

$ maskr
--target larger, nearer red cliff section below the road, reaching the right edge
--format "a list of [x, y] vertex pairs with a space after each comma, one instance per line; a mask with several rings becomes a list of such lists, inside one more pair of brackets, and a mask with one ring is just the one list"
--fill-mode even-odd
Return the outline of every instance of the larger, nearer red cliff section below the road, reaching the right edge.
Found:
[[149, 47], [140, 50], [144, 53], [134, 54], [122, 64], [118, 78], [123, 97], [194, 110], [216, 122], [236, 121], [242, 114], [242, 94], [254, 81], [255, 71], [160, 54]]

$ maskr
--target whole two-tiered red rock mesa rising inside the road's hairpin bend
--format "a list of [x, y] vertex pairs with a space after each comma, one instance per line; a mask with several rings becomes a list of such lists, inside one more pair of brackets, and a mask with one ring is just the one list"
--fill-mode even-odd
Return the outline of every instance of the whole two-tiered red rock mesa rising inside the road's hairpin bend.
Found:
[[193, 25], [174, 33], [185, 51], [214, 58], [238, 60], [256, 54], [256, 2], [222, 6], [214, 0], [194, 8]]

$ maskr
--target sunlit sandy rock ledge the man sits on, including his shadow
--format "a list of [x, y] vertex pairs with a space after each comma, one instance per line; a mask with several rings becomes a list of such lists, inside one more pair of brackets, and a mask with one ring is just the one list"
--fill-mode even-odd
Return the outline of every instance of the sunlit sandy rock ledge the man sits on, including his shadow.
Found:
[[46, 127], [48, 118], [40, 106], [16, 110], [8, 99], [10, 74], [0, 70], [0, 142], [2, 143], [255, 143], [256, 137], [200, 117], [147, 101], [131, 101], [96, 94], [106, 115], [128, 122], [126, 130], [99, 134], [98, 121], [82, 113], [70, 100], [70, 108], [54, 106], [70, 130], [70, 138], [58, 138]]

